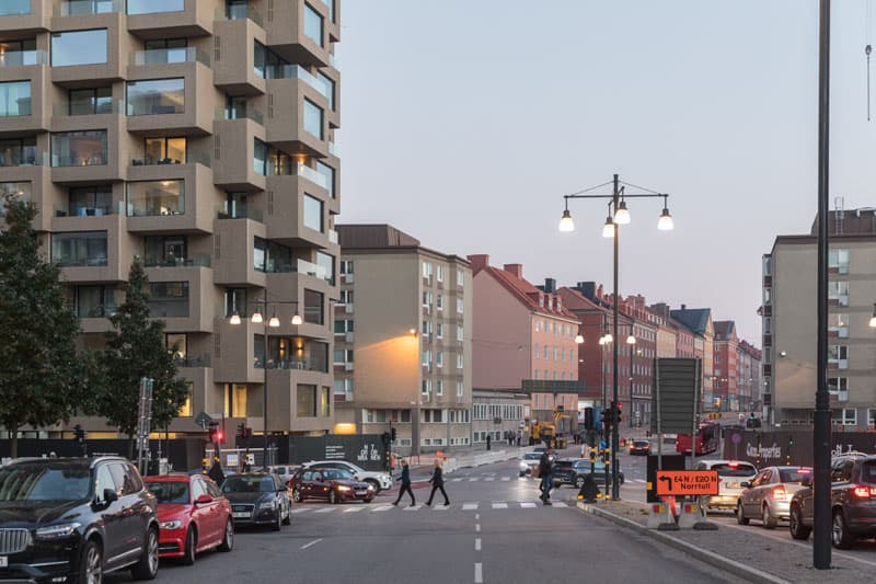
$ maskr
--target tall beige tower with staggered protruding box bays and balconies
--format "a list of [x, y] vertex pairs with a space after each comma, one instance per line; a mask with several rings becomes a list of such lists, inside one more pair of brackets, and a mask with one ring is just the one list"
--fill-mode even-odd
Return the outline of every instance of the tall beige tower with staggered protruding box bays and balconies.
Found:
[[266, 381], [270, 433], [333, 427], [338, 39], [338, 0], [0, 2], [0, 191], [37, 205], [84, 345], [142, 259], [192, 387], [171, 436], [262, 433]]

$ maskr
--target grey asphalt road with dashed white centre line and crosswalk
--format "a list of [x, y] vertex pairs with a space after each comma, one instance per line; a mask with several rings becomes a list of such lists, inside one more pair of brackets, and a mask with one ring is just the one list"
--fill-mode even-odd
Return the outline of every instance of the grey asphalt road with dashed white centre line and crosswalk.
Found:
[[[158, 581], [738, 582], [581, 513], [575, 506], [577, 490], [569, 486], [554, 491], [552, 507], [542, 506], [537, 484], [518, 478], [514, 460], [448, 474], [449, 507], [441, 505], [440, 494], [433, 508], [425, 507], [427, 489], [415, 489], [415, 507], [393, 507], [394, 494], [370, 504], [299, 504], [292, 525], [280, 533], [242, 531], [231, 553], [204, 553], [194, 566], [162, 562]], [[644, 500], [644, 482], [627, 480], [622, 496], [639, 491]]]

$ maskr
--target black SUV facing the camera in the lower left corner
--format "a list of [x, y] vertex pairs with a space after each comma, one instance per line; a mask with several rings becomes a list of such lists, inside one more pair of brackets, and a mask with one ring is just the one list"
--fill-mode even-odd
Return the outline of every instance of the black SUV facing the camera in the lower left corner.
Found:
[[124, 458], [19, 459], [0, 467], [0, 581], [100, 583], [158, 573], [155, 497]]

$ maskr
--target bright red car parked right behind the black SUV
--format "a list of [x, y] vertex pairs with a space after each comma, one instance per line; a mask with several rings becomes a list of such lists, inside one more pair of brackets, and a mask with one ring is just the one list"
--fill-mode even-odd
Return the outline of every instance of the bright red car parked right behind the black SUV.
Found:
[[197, 552], [231, 551], [231, 504], [209, 477], [165, 474], [143, 482], [158, 499], [160, 558], [180, 558], [191, 565]]

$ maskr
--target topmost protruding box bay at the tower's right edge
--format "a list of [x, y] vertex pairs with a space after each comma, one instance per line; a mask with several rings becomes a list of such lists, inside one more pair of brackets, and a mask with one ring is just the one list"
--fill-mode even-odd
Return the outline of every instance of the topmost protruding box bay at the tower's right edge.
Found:
[[[304, 62], [314, 67], [327, 67], [328, 46], [326, 23], [331, 22], [328, 7], [323, 2], [311, 2], [323, 20], [322, 46], [304, 34], [304, 0], [275, 2], [274, 10], [265, 20], [265, 31], [270, 48], [292, 62]], [[336, 31], [336, 25], [334, 28]]]

